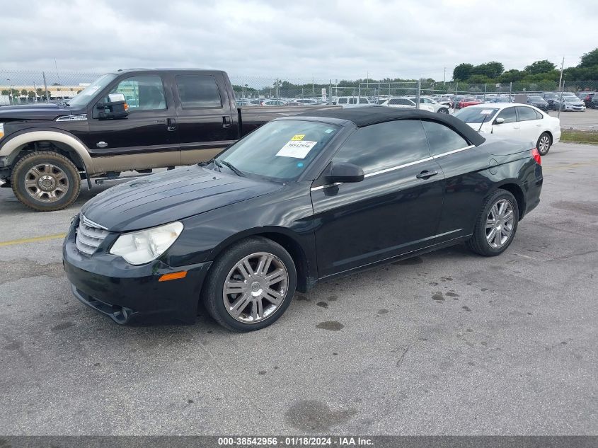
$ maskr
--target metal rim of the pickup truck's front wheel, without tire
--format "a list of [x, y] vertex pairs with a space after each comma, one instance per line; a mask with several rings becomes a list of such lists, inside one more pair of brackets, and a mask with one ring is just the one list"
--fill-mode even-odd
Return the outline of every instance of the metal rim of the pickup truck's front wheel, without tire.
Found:
[[35, 200], [56, 202], [69, 191], [69, 178], [51, 163], [36, 165], [25, 174], [25, 190]]

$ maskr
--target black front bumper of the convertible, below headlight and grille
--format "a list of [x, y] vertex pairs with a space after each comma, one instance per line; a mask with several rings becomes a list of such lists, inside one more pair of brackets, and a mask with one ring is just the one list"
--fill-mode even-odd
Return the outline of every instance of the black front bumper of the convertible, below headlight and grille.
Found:
[[[64, 270], [77, 299], [116, 323], [192, 323], [197, 316], [200, 292], [212, 262], [171, 268], [156, 260], [133, 266], [98, 249], [91, 256], [75, 245], [78, 219], [62, 247]], [[163, 274], [187, 271], [186, 277], [159, 282]]]

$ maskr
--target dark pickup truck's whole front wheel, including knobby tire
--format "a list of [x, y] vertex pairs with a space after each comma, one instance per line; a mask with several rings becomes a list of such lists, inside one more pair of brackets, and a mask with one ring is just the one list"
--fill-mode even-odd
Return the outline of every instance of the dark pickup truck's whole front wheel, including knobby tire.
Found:
[[19, 160], [11, 175], [18, 200], [38, 212], [53, 212], [71, 205], [81, 191], [76, 166], [52, 151], [33, 152]]

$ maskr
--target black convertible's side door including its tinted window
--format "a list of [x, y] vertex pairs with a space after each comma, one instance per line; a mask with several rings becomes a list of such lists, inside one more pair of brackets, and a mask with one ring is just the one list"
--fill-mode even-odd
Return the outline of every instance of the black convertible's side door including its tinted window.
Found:
[[444, 176], [419, 120], [362, 127], [331, 162], [361, 166], [365, 178], [311, 189], [320, 277], [434, 243]]

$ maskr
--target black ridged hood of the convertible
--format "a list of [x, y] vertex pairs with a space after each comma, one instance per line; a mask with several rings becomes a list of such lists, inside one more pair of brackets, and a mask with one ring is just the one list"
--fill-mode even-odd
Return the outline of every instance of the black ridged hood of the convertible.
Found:
[[81, 209], [110, 231], [133, 231], [280, 190], [282, 184], [188, 166], [122, 183]]

